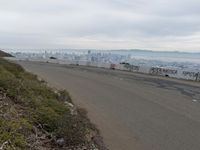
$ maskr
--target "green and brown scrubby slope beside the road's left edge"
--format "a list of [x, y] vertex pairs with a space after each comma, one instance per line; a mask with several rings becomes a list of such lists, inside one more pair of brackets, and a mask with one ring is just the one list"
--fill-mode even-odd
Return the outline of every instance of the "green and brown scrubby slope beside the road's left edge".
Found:
[[84, 109], [0, 58], [0, 150], [106, 149]]

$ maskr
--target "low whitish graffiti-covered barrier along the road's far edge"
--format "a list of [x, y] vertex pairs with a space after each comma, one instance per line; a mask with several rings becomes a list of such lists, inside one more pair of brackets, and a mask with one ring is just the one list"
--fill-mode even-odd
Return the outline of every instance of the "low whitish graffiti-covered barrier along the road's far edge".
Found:
[[27, 58], [6, 58], [9, 60], [29, 60], [47, 63], [57, 63], [57, 64], [68, 64], [68, 65], [80, 65], [80, 66], [90, 66], [99, 67], [106, 69], [116, 69], [129, 72], [139, 72], [144, 74], [166, 76], [178, 79], [200, 81], [200, 72], [195, 72], [185, 69], [171, 69], [165, 67], [152, 67], [152, 66], [137, 66], [129, 64], [113, 64], [113, 63], [98, 63], [90, 61], [73, 61], [73, 60], [60, 60], [60, 59], [27, 59]]

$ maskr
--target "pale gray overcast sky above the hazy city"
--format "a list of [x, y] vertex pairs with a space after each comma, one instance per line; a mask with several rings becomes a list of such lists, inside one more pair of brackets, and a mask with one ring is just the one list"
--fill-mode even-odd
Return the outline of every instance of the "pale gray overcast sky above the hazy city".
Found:
[[200, 52], [200, 0], [0, 0], [0, 47]]

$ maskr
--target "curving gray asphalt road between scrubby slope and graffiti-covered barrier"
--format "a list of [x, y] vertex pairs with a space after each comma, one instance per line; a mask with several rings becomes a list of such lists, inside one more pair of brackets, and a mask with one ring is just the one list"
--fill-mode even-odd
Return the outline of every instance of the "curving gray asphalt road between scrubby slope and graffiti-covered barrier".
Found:
[[200, 83], [19, 62], [88, 110], [111, 150], [200, 150]]

